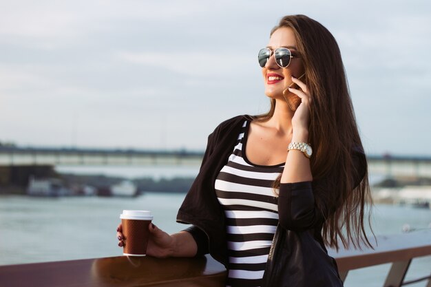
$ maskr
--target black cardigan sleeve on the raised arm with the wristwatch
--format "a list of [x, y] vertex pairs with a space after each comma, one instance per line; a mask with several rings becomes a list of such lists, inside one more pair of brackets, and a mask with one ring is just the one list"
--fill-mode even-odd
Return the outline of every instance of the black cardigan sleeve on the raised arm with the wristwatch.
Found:
[[[352, 190], [366, 176], [367, 164], [365, 154], [360, 151], [353, 153]], [[314, 192], [334, 192], [328, 190], [330, 185], [326, 180], [293, 182], [280, 184], [278, 196], [278, 215], [280, 225], [293, 231], [306, 230], [321, 226], [326, 217], [335, 211], [328, 202], [318, 209], [315, 204]]]

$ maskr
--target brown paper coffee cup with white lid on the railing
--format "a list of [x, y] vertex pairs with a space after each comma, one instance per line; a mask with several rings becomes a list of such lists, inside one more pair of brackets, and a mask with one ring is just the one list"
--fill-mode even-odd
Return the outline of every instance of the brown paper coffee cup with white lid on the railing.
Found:
[[120, 215], [125, 237], [123, 255], [145, 256], [149, 237], [148, 226], [153, 220], [151, 211], [123, 210]]

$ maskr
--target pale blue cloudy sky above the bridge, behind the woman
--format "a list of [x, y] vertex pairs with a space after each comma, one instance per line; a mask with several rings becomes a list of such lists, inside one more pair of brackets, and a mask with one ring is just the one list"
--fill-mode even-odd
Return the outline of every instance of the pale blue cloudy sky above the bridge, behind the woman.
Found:
[[285, 14], [333, 33], [367, 153], [431, 155], [431, 4], [0, 0], [0, 141], [203, 150], [269, 108], [257, 52]]

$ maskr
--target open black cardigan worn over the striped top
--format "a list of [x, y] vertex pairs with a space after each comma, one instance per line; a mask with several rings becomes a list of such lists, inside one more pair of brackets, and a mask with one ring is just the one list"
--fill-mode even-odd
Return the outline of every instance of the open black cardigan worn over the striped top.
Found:
[[[193, 224], [187, 231], [198, 244], [198, 255], [209, 252], [224, 266], [228, 264], [224, 211], [215, 195], [214, 183], [227, 164], [246, 119], [251, 120], [249, 116], [226, 120], [209, 135], [200, 171], [177, 215], [177, 222]], [[355, 163], [363, 177], [365, 156], [358, 154]], [[362, 177], [355, 180], [355, 184]], [[279, 226], [265, 270], [265, 286], [342, 286], [335, 260], [327, 255], [322, 239], [322, 224], [327, 214], [315, 208], [313, 191], [318, 190], [319, 182], [280, 185]], [[286, 274], [288, 279], [280, 277]]]

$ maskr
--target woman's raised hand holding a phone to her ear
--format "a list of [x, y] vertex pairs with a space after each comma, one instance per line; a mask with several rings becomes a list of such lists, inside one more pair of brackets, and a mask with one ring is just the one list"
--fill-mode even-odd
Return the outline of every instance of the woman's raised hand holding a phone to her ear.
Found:
[[292, 118], [292, 129], [296, 131], [308, 131], [308, 124], [310, 123], [310, 106], [311, 96], [308, 94], [307, 86], [295, 77], [292, 77], [293, 83], [297, 84], [301, 89], [293, 89], [289, 87], [289, 92], [299, 96], [301, 103], [297, 107], [295, 114]]

